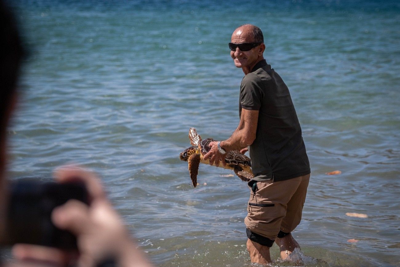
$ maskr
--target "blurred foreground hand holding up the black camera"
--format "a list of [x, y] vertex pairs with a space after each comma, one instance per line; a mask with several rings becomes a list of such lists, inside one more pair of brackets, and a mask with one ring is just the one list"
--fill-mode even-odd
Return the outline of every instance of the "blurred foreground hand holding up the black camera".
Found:
[[83, 181], [89, 193], [90, 206], [70, 200], [52, 212], [54, 225], [76, 235], [78, 252], [17, 244], [12, 248], [17, 262], [11, 266], [152, 266], [133, 242], [94, 173], [68, 165], [56, 169], [54, 177], [59, 183]]

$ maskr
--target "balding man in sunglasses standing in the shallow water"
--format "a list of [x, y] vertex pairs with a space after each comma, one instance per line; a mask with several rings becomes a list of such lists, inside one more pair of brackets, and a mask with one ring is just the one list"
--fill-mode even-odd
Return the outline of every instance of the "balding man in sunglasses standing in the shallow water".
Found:
[[310, 164], [289, 90], [264, 60], [260, 28], [237, 28], [229, 44], [234, 64], [245, 76], [240, 84], [240, 122], [232, 136], [210, 143], [210, 164], [224, 165], [226, 151], [250, 150], [254, 178], [244, 222], [247, 249], [254, 263], [271, 262], [270, 247], [282, 259], [300, 248], [290, 234], [300, 223], [310, 179]]

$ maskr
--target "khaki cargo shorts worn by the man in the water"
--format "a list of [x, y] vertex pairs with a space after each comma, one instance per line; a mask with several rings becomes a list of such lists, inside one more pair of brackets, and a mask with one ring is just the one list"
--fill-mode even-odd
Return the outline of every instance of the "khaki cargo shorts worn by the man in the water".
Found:
[[278, 182], [250, 180], [246, 228], [272, 240], [279, 231], [292, 232], [301, 220], [309, 180], [309, 174]]

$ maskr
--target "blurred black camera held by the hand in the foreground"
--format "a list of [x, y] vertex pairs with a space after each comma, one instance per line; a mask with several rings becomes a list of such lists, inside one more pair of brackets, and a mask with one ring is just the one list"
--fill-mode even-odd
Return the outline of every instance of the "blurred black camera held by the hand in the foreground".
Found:
[[39, 178], [10, 182], [3, 245], [27, 243], [65, 250], [77, 249], [76, 237], [58, 229], [51, 221], [52, 210], [70, 199], [88, 204], [84, 183], [56, 183]]

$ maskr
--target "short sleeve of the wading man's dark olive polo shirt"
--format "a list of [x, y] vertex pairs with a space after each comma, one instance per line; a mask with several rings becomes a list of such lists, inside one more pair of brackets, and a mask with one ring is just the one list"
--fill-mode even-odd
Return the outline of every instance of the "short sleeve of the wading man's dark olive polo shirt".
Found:
[[262, 102], [261, 80], [257, 75], [249, 73], [240, 84], [240, 104], [244, 109], [260, 110]]

